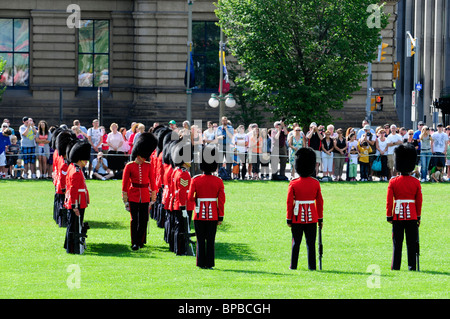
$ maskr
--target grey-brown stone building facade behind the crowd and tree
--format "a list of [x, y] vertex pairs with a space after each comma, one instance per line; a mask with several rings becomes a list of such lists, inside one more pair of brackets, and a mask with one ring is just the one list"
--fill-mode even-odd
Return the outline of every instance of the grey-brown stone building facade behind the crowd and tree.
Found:
[[[373, 67], [374, 87], [384, 95], [384, 111], [374, 114], [374, 125], [398, 120], [392, 81], [396, 3], [387, 1], [386, 7], [392, 14], [383, 30], [383, 41], [390, 45], [387, 59]], [[186, 119], [186, 0], [0, 0], [0, 8], [0, 24], [12, 26], [11, 36], [5, 31], [0, 38], [10, 37], [14, 43], [0, 47], [0, 56], [9, 58], [4, 80], [11, 85], [0, 103], [0, 117], [9, 118], [13, 126], [25, 115], [51, 125], [79, 119], [85, 126], [100, 117], [106, 127], [111, 122], [128, 127], [133, 121], [150, 126]], [[211, 0], [195, 0], [193, 21], [213, 25], [214, 9]], [[78, 13], [81, 23], [76, 25]], [[26, 39], [28, 46], [21, 46]], [[366, 98], [362, 86], [335, 112], [336, 126], [361, 125]], [[97, 87], [102, 89], [100, 107]], [[218, 109], [208, 106], [211, 93], [206, 88], [192, 94], [192, 119], [202, 119], [204, 126], [219, 119]]]

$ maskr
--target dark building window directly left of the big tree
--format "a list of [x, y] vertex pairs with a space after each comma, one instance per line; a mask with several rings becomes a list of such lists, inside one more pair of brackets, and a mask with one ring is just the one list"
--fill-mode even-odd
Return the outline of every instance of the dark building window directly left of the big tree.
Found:
[[220, 28], [214, 21], [193, 21], [192, 42], [195, 90], [211, 92], [219, 88]]

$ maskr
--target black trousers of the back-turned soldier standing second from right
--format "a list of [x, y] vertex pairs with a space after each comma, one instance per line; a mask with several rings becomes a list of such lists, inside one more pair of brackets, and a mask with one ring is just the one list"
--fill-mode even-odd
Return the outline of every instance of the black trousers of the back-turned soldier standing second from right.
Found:
[[316, 236], [317, 223], [292, 224], [292, 253], [290, 269], [297, 269], [298, 254], [302, 243], [303, 233], [305, 233], [306, 250], [308, 252], [308, 269], [316, 270]]

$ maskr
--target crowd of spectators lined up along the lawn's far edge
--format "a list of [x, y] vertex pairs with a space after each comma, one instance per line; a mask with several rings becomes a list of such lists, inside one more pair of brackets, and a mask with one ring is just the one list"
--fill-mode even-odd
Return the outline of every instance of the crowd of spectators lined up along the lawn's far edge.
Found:
[[[8, 119], [2, 123], [0, 135], [0, 178], [39, 178], [52, 176], [52, 132], [56, 129], [41, 120], [36, 125], [24, 117], [17, 131]], [[107, 130], [94, 119], [87, 129], [79, 120], [68, 127], [79, 139], [91, 144], [91, 159], [86, 177], [100, 180], [120, 179], [125, 164], [139, 135], [152, 127], [133, 122], [129, 128], [112, 123]], [[450, 181], [450, 126], [438, 124], [436, 129], [418, 123], [416, 130], [385, 124], [372, 128], [367, 121], [362, 128], [338, 128], [311, 123], [308, 129], [297, 123], [286, 125], [277, 121], [271, 128], [258, 124], [233, 126], [226, 118], [221, 123], [208, 121], [202, 128], [197, 122], [184, 121], [180, 127], [172, 120], [162, 123], [179, 135], [189, 136], [193, 145], [192, 174], [198, 174], [195, 160], [202, 145], [216, 144], [222, 152], [223, 167], [218, 175], [223, 179], [288, 180], [297, 177], [295, 153], [311, 147], [316, 153], [316, 177], [322, 181], [387, 181], [397, 175], [394, 149], [411, 143], [417, 150], [417, 165], [413, 175], [422, 182]], [[38, 164], [38, 165], [37, 165]], [[289, 169], [287, 166], [289, 164]], [[286, 172], [289, 172], [289, 177]], [[446, 172], [445, 172], [446, 171]]]

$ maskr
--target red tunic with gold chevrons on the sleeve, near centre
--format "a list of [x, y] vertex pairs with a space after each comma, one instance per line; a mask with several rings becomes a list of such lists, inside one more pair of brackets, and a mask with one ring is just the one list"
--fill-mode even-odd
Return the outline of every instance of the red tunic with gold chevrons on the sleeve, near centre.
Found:
[[193, 210], [194, 205], [187, 200], [189, 186], [191, 184], [191, 174], [185, 167], [175, 168], [172, 174], [172, 205], [173, 210], [180, 210], [185, 206], [186, 210]]

